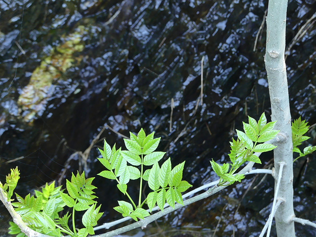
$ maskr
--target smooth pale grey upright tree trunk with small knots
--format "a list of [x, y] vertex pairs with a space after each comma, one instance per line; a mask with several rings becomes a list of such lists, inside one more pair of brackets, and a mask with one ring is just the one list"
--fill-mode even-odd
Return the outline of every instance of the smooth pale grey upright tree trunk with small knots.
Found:
[[274, 150], [275, 168], [277, 174], [280, 163], [284, 163], [278, 199], [283, 200], [277, 208], [277, 237], [295, 237], [293, 209], [293, 144], [291, 131], [291, 114], [284, 59], [285, 28], [287, 0], [269, 0], [267, 15], [267, 46], [265, 65], [267, 70], [271, 100], [272, 120], [276, 122], [274, 129], [280, 130], [281, 140], [277, 141]]

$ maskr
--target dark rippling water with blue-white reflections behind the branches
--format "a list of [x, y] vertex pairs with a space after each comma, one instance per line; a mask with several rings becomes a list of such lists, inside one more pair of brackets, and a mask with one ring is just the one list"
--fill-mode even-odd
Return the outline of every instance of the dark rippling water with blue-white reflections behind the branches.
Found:
[[[313, 0], [289, 1], [287, 47], [315, 7]], [[24, 178], [17, 192], [53, 179], [64, 182], [77, 169], [96, 176], [102, 167], [95, 147], [86, 160], [70, 157], [84, 152], [105, 125], [125, 136], [141, 127], [155, 131], [166, 158], [174, 164], [186, 160], [185, 179], [196, 188], [216, 179], [209, 160], [228, 160], [229, 141], [247, 115], [270, 117], [265, 26], [253, 51], [265, 0], [0, 0], [0, 8], [1, 182], [18, 165]], [[310, 21], [286, 59], [292, 117], [311, 125], [316, 123], [315, 24]], [[116, 132], [107, 128], [101, 138], [123, 146]], [[315, 132], [313, 127], [309, 133], [314, 145]], [[24, 158], [7, 163], [19, 157]], [[271, 158], [263, 157], [263, 165]], [[294, 165], [295, 213], [315, 220], [310, 211], [316, 207], [315, 155]], [[270, 213], [274, 182], [263, 175], [251, 182], [248, 177], [158, 220], [146, 236], [160, 231], [211, 236], [216, 226], [217, 236], [258, 236]], [[99, 177], [96, 183], [106, 213], [100, 223], [117, 219], [112, 208], [123, 197], [115, 194], [114, 183]], [[7, 218], [5, 210], [0, 215]], [[316, 234], [300, 225], [296, 230], [297, 236]], [[5, 235], [5, 228], [1, 231]]]

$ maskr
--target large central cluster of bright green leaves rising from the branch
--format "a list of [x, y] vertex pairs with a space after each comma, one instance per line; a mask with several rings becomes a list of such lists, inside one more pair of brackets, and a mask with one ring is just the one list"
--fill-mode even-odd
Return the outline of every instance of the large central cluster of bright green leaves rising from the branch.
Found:
[[[142, 208], [145, 203], [150, 211], [156, 204], [161, 210], [166, 202], [172, 207], [175, 202], [183, 204], [181, 193], [192, 187], [187, 181], [182, 180], [185, 162], [172, 169], [170, 158], [168, 158], [159, 166], [158, 161], [165, 154], [155, 152], [159, 141], [160, 138], [154, 139], [154, 133], [146, 136], [144, 130], [141, 129], [137, 136], [130, 132], [130, 139], [124, 139], [127, 151], [121, 151], [121, 148], [116, 150], [115, 145], [111, 149], [106, 141], [104, 141], [103, 150], [99, 149], [103, 157], [99, 160], [107, 169], [99, 175], [116, 180], [118, 190], [130, 200], [130, 202], [118, 201], [118, 206], [114, 207], [122, 216], [129, 216], [135, 221], [144, 219], [149, 216], [149, 213]], [[127, 192], [127, 185], [131, 179], [140, 179], [137, 205]], [[148, 186], [153, 192], [142, 201], [143, 181], [148, 181]]]

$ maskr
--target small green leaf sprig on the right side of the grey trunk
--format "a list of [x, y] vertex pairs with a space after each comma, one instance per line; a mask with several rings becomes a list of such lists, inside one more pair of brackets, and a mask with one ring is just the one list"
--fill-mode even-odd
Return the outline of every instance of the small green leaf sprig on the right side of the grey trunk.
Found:
[[293, 160], [297, 160], [298, 158], [304, 157], [308, 154], [311, 154], [312, 152], [316, 151], [316, 146], [308, 146], [305, 147], [303, 150], [303, 153], [298, 148], [302, 144], [302, 142], [308, 140], [310, 137], [304, 136], [304, 134], [308, 131], [309, 125], [307, 125], [306, 120], [301, 120], [301, 117], [298, 119], [295, 119], [294, 122], [292, 122], [292, 142], [293, 142], [293, 153], [298, 153], [299, 156]]

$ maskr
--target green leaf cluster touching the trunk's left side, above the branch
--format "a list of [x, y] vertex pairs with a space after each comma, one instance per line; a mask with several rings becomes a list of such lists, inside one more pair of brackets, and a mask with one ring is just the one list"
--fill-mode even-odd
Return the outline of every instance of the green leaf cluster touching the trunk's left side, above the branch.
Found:
[[[273, 139], [278, 130], [273, 130], [276, 121], [268, 122], [263, 113], [257, 123], [254, 118], [248, 116], [248, 123], [243, 122], [243, 130], [237, 131], [237, 140], [230, 142], [231, 153], [228, 155], [232, 163], [217, 164], [211, 160], [211, 165], [215, 173], [220, 177], [218, 186], [233, 184], [236, 181], [240, 182], [244, 175], [234, 175], [237, 169], [246, 161], [253, 161], [261, 164], [259, 157], [254, 155], [255, 152], [268, 152], [276, 148], [272, 144], [265, 144]], [[258, 144], [261, 143], [261, 144]]]

